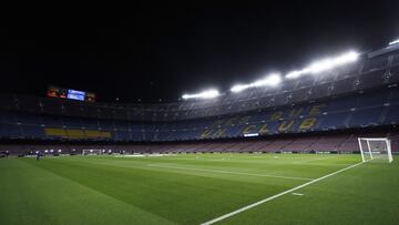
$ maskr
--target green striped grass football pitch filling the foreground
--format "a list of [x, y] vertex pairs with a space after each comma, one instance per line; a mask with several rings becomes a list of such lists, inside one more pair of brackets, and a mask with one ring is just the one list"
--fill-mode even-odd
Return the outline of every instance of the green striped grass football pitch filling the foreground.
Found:
[[[216, 224], [398, 224], [398, 160], [360, 164]], [[359, 162], [308, 154], [0, 158], [0, 224], [202, 224]]]

